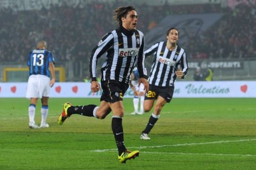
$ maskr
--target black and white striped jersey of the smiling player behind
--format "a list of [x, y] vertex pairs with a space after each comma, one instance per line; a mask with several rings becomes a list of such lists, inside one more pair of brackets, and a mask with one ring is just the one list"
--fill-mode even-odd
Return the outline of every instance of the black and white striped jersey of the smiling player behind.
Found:
[[161, 41], [147, 49], [144, 54], [146, 57], [151, 54], [155, 57], [150, 70], [149, 84], [160, 87], [174, 86], [177, 78], [175, 71], [179, 65], [184, 76], [187, 74], [186, 53], [179, 45], [171, 51], [166, 47], [166, 42]]

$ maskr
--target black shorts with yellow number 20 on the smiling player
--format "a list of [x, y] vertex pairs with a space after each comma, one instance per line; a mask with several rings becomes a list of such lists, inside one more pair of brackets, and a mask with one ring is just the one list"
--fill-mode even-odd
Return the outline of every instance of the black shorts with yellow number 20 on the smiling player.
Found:
[[174, 86], [159, 87], [149, 84], [149, 90], [145, 94], [145, 100], [156, 100], [158, 96], [163, 97], [167, 103], [170, 103], [173, 96]]

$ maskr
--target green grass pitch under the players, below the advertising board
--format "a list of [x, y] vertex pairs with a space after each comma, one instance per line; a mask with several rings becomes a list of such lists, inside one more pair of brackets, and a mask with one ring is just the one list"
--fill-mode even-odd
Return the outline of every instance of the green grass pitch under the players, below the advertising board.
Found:
[[[0, 98], [0, 169], [256, 169], [255, 98], [174, 98], [140, 140], [151, 112], [130, 115], [124, 99], [125, 145], [139, 157], [120, 164], [105, 120], [81, 115], [57, 124], [61, 103], [99, 104], [99, 99], [51, 98], [50, 128], [28, 128], [29, 100]], [[36, 122], [41, 121], [37, 105]], [[111, 114], [111, 113], [110, 113]]]

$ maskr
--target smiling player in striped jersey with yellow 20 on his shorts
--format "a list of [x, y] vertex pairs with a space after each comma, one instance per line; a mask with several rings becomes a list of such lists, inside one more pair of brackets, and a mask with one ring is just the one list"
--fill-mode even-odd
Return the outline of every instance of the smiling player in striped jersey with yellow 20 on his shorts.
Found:
[[179, 30], [174, 27], [170, 28], [166, 32], [166, 41], [156, 43], [144, 52], [146, 57], [151, 54], [155, 56], [148, 79], [149, 91], [145, 94], [144, 112], [151, 110], [155, 100], [156, 103], [148, 124], [140, 135], [142, 140], [150, 140], [148, 133], [157, 122], [163, 106], [170, 103], [176, 78], [183, 79], [187, 74], [186, 53], [177, 44], [178, 40]]

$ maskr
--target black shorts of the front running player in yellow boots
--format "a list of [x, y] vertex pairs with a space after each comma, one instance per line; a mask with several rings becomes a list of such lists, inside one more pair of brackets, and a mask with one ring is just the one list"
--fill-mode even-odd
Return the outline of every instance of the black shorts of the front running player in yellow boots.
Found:
[[104, 100], [109, 103], [123, 100], [125, 91], [129, 88], [129, 84], [118, 82], [115, 80], [101, 81], [102, 95], [100, 101]]

